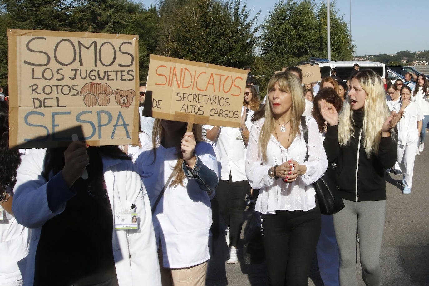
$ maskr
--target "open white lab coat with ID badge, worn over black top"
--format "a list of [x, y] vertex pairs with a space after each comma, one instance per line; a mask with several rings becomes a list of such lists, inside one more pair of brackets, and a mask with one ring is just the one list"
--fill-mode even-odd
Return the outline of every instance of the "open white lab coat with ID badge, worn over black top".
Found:
[[[24, 273], [24, 285], [33, 285], [34, 260], [43, 224], [64, 211], [57, 213], [48, 207], [46, 181], [43, 171], [45, 149], [36, 149], [27, 155], [18, 168], [12, 210], [16, 220], [33, 228], [30, 252]], [[102, 155], [112, 213], [129, 210], [136, 205], [140, 223], [138, 230], [113, 230], [112, 245], [116, 274], [120, 286], [161, 285], [157, 247], [151, 219], [151, 207], [140, 176], [131, 161], [113, 159]], [[83, 229], [85, 230], [85, 229]]]

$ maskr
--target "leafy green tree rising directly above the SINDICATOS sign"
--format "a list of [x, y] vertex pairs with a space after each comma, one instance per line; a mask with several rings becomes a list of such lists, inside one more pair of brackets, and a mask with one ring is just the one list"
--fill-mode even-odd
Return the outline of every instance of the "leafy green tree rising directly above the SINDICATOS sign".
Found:
[[159, 53], [185, 60], [243, 68], [254, 60], [259, 12], [241, 0], [162, 0]]

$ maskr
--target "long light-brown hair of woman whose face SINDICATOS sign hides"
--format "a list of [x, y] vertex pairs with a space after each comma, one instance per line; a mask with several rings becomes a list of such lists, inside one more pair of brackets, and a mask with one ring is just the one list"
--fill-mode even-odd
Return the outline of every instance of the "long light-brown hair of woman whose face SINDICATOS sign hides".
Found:
[[[158, 118], [155, 119], [154, 128], [152, 131], [152, 148], [153, 148], [152, 151], [154, 152], [154, 162], [157, 158], [157, 147], [160, 145], [161, 141], [165, 137], [165, 132], [166, 130], [161, 124], [161, 119], [158, 119]], [[184, 128], [184, 132], [186, 132], [186, 127]], [[202, 126], [200, 124], [193, 124], [192, 132], [196, 142], [202, 141]], [[173, 168], [173, 172], [172, 172], [173, 180], [171, 181], [171, 184], [169, 185], [169, 187], [177, 187], [179, 184], [181, 184], [181, 186], [184, 187], [183, 181], [186, 178], [186, 175], [184, 174], [182, 169], [184, 159], [182, 156], [182, 152], [180, 150], [180, 145], [176, 146], [176, 150], [177, 150], [176, 152], [177, 163]]]

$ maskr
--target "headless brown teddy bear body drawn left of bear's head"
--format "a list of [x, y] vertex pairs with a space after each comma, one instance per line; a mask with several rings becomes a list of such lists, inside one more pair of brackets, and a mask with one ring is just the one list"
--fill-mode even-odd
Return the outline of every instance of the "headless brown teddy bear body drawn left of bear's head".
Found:
[[88, 107], [97, 105], [97, 102], [100, 106], [106, 106], [110, 103], [109, 95], [112, 93], [112, 87], [105, 82], [88, 82], [82, 87], [80, 96], [84, 96], [83, 102]]

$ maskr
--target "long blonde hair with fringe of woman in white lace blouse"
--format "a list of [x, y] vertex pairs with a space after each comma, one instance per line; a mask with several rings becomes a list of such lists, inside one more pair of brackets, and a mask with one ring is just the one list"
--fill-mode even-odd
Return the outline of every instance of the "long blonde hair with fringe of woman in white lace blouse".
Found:
[[[299, 78], [291, 72], [279, 72], [271, 77], [268, 83], [267, 95], [269, 91], [278, 84], [281, 91], [287, 92], [292, 96], [292, 114], [290, 118], [291, 138], [296, 137], [299, 132], [299, 124], [301, 123], [301, 115], [305, 110], [304, 92], [302, 91]], [[258, 151], [262, 155], [262, 160], [267, 160], [267, 146], [271, 138], [271, 134], [275, 130], [274, 114], [271, 110], [271, 104], [267, 102], [265, 108], [265, 121], [259, 135]]]

